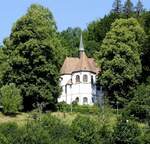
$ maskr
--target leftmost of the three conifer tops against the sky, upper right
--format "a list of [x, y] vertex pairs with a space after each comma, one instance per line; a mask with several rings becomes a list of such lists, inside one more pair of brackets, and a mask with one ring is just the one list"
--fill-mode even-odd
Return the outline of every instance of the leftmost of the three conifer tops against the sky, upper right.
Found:
[[115, 0], [113, 3], [113, 9], [112, 11], [116, 14], [120, 14], [122, 12], [122, 4], [121, 0]]

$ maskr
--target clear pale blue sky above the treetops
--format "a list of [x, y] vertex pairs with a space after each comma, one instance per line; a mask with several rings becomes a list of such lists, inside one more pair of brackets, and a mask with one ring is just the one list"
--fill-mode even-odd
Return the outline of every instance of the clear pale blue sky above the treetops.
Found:
[[[56, 20], [58, 30], [67, 27], [86, 28], [89, 22], [103, 17], [114, 0], [1, 0], [0, 2], [0, 44], [9, 36], [13, 23], [24, 15], [32, 3], [48, 7]], [[122, 0], [124, 2], [124, 0]], [[136, 3], [138, 0], [132, 0]], [[150, 0], [142, 0], [144, 7], [150, 9]]]

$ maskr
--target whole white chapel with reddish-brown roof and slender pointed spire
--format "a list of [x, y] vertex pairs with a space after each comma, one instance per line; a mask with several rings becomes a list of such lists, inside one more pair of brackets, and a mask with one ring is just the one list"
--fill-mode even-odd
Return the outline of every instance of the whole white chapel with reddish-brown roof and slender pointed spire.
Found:
[[61, 68], [62, 93], [58, 102], [93, 105], [101, 102], [103, 96], [102, 88], [96, 85], [100, 68], [93, 58], [86, 56], [82, 35], [79, 50], [79, 57], [67, 57]]

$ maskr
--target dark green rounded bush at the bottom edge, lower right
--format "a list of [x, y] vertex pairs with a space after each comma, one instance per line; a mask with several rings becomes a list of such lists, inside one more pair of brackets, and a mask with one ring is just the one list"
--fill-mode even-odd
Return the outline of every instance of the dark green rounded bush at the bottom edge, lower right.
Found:
[[139, 136], [141, 131], [134, 121], [125, 118], [118, 121], [114, 128], [114, 144], [141, 144]]

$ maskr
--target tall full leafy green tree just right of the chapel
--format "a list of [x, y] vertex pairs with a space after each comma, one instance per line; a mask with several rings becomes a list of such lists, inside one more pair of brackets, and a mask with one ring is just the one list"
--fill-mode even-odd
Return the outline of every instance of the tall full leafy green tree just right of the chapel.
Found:
[[136, 19], [116, 20], [96, 54], [102, 73], [98, 81], [108, 92], [110, 102], [123, 106], [130, 100], [129, 91], [137, 84], [142, 71], [141, 49], [144, 31]]

